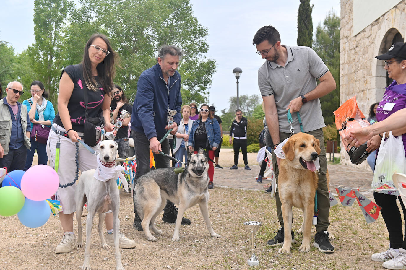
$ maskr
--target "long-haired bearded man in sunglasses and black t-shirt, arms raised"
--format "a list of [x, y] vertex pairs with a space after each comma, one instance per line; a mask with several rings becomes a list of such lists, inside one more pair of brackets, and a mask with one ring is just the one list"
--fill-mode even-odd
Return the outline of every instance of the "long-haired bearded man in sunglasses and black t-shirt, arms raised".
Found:
[[[110, 103], [110, 108], [113, 111], [114, 123], [117, 123], [117, 120], [120, 118], [121, 112], [126, 110], [132, 114], [132, 106], [128, 103], [128, 99], [125, 97], [123, 89], [117, 84], [114, 85], [115, 90], [113, 91], [113, 99]], [[117, 130], [116, 138], [114, 141], [119, 145], [117, 152], [119, 153], [120, 158], [128, 158], [130, 145], [128, 143], [128, 123], [130, 123], [131, 117], [124, 119], [123, 125]], [[121, 162], [121, 165], [123, 162]]]

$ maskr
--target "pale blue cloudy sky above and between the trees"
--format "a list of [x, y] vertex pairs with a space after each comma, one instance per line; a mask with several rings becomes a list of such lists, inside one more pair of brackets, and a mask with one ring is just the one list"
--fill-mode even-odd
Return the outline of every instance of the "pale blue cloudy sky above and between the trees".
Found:
[[[299, 0], [190, 0], [190, 3], [199, 23], [209, 28], [207, 56], [218, 65], [210, 86], [209, 104], [218, 111], [229, 107], [229, 98], [237, 94], [232, 73], [235, 67], [242, 69], [239, 94], [259, 94], [257, 70], [264, 60], [255, 53], [253, 36], [259, 28], [271, 24], [279, 31], [282, 44], [296, 45]], [[313, 32], [331, 9], [340, 15], [339, 0], [311, 0], [311, 4], [314, 4]], [[34, 42], [34, 1], [2, 0], [1, 5], [2, 14], [8, 15], [0, 20], [0, 40], [9, 42], [20, 53]]]

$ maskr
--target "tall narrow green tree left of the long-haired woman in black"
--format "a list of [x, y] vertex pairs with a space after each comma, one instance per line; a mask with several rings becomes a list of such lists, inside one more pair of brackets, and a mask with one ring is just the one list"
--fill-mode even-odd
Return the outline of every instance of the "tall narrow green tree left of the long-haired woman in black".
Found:
[[[73, 3], [68, 0], [35, 0], [34, 35], [35, 43], [27, 50], [33, 69], [32, 80], [43, 82], [50, 93], [50, 100], [56, 107], [59, 76], [63, 58], [60, 54], [63, 44], [63, 30]], [[70, 45], [70, 44], [69, 44]]]

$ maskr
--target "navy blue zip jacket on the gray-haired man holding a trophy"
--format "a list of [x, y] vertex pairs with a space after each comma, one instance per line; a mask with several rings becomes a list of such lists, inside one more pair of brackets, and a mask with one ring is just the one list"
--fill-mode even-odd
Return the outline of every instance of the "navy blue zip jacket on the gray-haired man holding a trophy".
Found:
[[148, 140], [153, 137], [160, 140], [167, 132], [165, 130], [168, 125], [166, 109], [177, 111], [173, 121], [179, 126], [182, 106], [180, 81], [180, 74], [175, 71], [175, 74], [170, 77], [168, 91], [158, 63], [141, 73], [132, 105], [131, 129], [144, 133]]

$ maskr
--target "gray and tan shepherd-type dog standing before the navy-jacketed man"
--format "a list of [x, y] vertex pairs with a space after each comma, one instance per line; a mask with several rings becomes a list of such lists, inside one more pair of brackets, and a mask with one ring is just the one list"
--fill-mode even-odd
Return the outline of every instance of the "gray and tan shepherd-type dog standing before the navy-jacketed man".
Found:
[[209, 218], [208, 168], [205, 151], [200, 148], [197, 154], [191, 155], [188, 151], [188, 166], [183, 173], [176, 174], [173, 168], [160, 168], [137, 179], [134, 205], [142, 219], [141, 225], [148, 241], [157, 240], [149, 229], [155, 234], [162, 234], [161, 230], [155, 228], [154, 221], [162, 213], [166, 200], [179, 205], [172, 241], [179, 241], [179, 229], [186, 209], [197, 203], [210, 235], [221, 237], [213, 231]]

